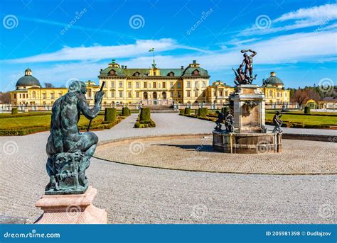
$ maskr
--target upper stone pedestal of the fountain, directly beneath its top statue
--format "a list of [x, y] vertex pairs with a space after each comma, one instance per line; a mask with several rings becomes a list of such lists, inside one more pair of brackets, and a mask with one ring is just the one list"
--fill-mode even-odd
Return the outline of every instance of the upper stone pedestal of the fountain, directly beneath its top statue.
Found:
[[242, 84], [230, 96], [234, 108], [235, 132], [261, 132], [264, 125], [264, 94], [259, 86]]

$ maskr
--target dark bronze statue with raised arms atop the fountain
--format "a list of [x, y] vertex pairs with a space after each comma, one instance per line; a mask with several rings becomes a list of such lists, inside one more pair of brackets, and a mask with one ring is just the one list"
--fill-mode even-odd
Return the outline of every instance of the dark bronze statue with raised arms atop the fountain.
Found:
[[[257, 52], [255, 52], [254, 50], [241, 50], [244, 57], [244, 60], [242, 61], [242, 64], [240, 64], [240, 67], [238, 69], [233, 69], [233, 72], [235, 74], [235, 79], [234, 79], [234, 83], [236, 85], [239, 84], [252, 84], [252, 81], [254, 79], [256, 79], [257, 74], [255, 74], [255, 76], [253, 75], [253, 57], [255, 57], [255, 55], [257, 55]], [[252, 55], [247, 55], [247, 53], [245, 52], [252, 52]], [[242, 68], [245, 66], [245, 71], [242, 71]], [[249, 74], [249, 75], [248, 75]]]

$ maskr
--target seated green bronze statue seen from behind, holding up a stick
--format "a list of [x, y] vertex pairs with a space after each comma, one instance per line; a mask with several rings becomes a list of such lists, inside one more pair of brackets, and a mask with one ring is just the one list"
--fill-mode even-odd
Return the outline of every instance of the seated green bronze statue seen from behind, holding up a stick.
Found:
[[[104, 84], [102, 85], [102, 87]], [[92, 120], [100, 112], [104, 91], [95, 94], [95, 106], [90, 108], [83, 81], [73, 81], [68, 93], [53, 104], [50, 135], [46, 146], [46, 165], [50, 182], [46, 194], [81, 194], [88, 187], [85, 170], [95, 153], [98, 137], [93, 132], [80, 132], [80, 114]]]

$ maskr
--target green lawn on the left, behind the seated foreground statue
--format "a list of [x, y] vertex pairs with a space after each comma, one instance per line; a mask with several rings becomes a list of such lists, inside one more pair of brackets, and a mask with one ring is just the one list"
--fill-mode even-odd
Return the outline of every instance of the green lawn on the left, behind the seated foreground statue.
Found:
[[[95, 120], [104, 120], [104, 115], [97, 115]], [[88, 125], [89, 120], [81, 115], [78, 125]], [[15, 129], [15, 128], [26, 128], [32, 126], [49, 126], [50, 125], [50, 114], [49, 115], [33, 115], [33, 116], [21, 116], [15, 118], [1, 118], [0, 119], [0, 130], [1, 129]]]

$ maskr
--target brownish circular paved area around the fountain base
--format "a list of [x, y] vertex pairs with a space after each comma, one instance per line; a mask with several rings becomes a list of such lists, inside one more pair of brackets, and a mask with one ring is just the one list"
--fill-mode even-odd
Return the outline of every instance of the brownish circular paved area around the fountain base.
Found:
[[214, 152], [211, 136], [149, 139], [97, 149], [95, 157], [112, 162], [189, 171], [243, 174], [337, 174], [334, 142], [282, 140], [283, 152], [224, 154]]

